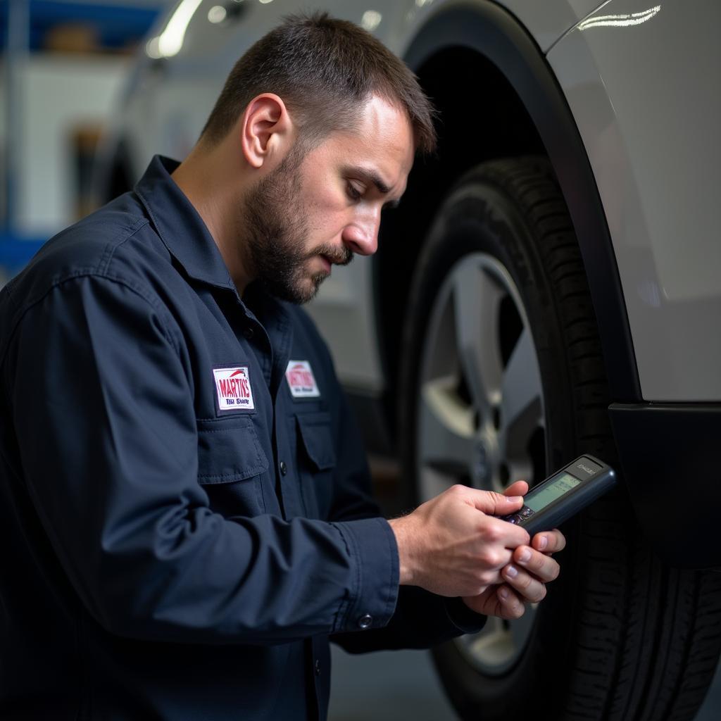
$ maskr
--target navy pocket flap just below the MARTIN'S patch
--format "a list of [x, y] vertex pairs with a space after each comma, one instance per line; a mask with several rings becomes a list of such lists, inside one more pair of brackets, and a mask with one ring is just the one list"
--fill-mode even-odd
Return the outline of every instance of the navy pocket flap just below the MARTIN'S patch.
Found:
[[198, 420], [198, 482], [242, 481], [267, 468], [250, 418]]

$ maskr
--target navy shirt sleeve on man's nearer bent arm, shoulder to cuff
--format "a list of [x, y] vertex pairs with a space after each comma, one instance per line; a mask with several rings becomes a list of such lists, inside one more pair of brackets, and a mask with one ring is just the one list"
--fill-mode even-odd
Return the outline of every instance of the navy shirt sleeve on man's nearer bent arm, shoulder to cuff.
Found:
[[24, 310], [3, 371], [37, 516], [110, 632], [267, 644], [391, 619], [397, 555], [382, 519], [209, 508], [190, 358], [147, 289], [97, 275], [56, 283]]

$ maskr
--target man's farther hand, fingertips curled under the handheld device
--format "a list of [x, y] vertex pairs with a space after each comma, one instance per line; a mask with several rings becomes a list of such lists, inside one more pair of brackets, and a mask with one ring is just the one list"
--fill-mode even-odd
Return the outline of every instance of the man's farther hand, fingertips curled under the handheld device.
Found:
[[[517, 481], [505, 495], [526, 495], [528, 484]], [[538, 603], [546, 596], [545, 584], [557, 578], [559, 565], [551, 554], [562, 550], [566, 539], [561, 531], [544, 531], [513, 551], [513, 561], [501, 571], [505, 583], [487, 588], [478, 596], [465, 596], [464, 602], [473, 611], [503, 619], [518, 619], [526, 611], [526, 603]]]

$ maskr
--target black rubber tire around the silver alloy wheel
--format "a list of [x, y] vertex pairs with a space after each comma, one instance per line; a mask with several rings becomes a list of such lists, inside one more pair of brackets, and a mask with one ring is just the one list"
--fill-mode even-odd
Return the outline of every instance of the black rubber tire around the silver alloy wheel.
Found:
[[[547, 473], [583, 453], [618, 467], [603, 354], [578, 242], [546, 159], [487, 162], [443, 203], [415, 271], [405, 326], [400, 428], [404, 478], [418, 477], [418, 359], [438, 288], [471, 252], [521, 292], [541, 372]], [[410, 480], [409, 480], [410, 479]], [[531, 479], [529, 479], [531, 480]], [[415, 503], [423, 498], [417, 497]], [[666, 567], [647, 547], [622, 484], [563, 528], [561, 575], [525, 650], [500, 675], [455, 642], [434, 650], [467, 720], [691, 720], [716, 668], [721, 577]]]

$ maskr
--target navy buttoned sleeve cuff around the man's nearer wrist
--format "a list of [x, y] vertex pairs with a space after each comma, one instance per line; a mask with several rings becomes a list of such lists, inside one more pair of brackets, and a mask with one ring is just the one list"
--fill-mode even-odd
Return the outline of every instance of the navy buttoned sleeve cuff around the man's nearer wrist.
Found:
[[332, 633], [382, 628], [398, 600], [399, 560], [396, 537], [385, 518], [342, 521], [335, 526], [348, 547], [354, 574], [350, 597], [336, 617]]

